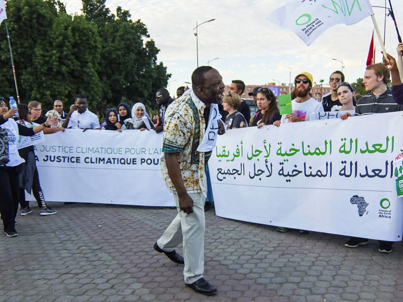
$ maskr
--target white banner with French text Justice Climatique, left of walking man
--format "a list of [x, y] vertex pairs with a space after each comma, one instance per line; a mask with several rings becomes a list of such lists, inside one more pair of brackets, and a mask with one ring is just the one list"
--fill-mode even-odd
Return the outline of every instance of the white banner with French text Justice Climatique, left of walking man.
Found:
[[161, 177], [162, 135], [81, 129], [46, 135], [35, 146], [45, 200], [174, 206]]

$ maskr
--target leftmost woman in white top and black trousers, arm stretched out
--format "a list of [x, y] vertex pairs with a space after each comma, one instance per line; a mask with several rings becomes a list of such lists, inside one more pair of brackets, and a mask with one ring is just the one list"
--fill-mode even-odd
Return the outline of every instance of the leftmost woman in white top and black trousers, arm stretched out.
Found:
[[18, 233], [15, 229], [15, 217], [18, 210], [18, 199], [20, 191], [19, 174], [24, 167], [24, 160], [19, 156], [17, 145], [19, 135], [32, 136], [43, 131], [47, 126], [54, 125], [57, 120], [47, 118], [46, 122], [27, 128], [13, 120], [17, 109], [8, 108], [5, 100], [0, 98], [0, 127], [7, 130], [9, 156], [8, 161], [0, 166], [0, 183], [2, 184], [2, 194], [0, 194], [0, 213], [4, 225], [4, 232], [7, 237], [16, 237]]

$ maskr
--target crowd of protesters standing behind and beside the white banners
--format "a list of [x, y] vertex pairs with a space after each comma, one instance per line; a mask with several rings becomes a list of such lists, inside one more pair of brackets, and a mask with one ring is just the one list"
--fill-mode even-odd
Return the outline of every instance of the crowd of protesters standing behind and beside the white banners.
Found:
[[[334, 71], [329, 77], [331, 92], [325, 95], [321, 102], [311, 97], [313, 84], [312, 74], [309, 72], [299, 73], [295, 79], [295, 89], [292, 92], [293, 113], [281, 116], [278, 101], [268, 88], [257, 87], [249, 96], [253, 97], [258, 111], [251, 116], [249, 106], [241, 96], [245, 90], [245, 84], [240, 80], [233, 80], [229, 86], [228, 94], [219, 105], [222, 121], [227, 131], [242, 127], [261, 128], [265, 125], [280, 126], [285, 122], [306, 122], [312, 119], [312, 114], [324, 111], [345, 111], [342, 119], [352, 115], [365, 115], [403, 110], [403, 43], [397, 47], [397, 60], [389, 54], [387, 62], [367, 66], [364, 74], [363, 85], [368, 95], [358, 99], [352, 85], [345, 82], [343, 72]], [[389, 69], [385, 67], [388, 65]], [[391, 74], [392, 87], [387, 87]], [[185, 94], [185, 87], [179, 87], [177, 98]], [[18, 212], [18, 204], [21, 206], [21, 215], [25, 216], [32, 212], [29, 202], [25, 200], [25, 191], [34, 195], [37, 200], [40, 215], [56, 213], [46, 205], [42, 192], [39, 174], [35, 164], [33, 146], [18, 149], [19, 136], [31, 136], [43, 131], [51, 134], [72, 129], [98, 129], [111, 131], [124, 131], [139, 129], [164, 131], [164, 117], [168, 106], [173, 102], [168, 90], [161, 88], [156, 92], [156, 103], [159, 107], [158, 115], [150, 116], [142, 103], [136, 103], [130, 109], [125, 103], [120, 103], [116, 108], [108, 108], [106, 119], [100, 121], [94, 113], [87, 108], [87, 97], [80, 94], [68, 113], [63, 111], [63, 103], [55, 100], [53, 109], [42, 115], [42, 105], [32, 101], [27, 105], [19, 104], [17, 109], [8, 109], [6, 100], [0, 98], [0, 127], [7, 130], [9, 155], [8, 162], [0, 162], [0, 181], [5, 188], [5, 193], [0, 195], [0, 212], [3, 219], [6, 236], [18, 235], [15, 229], [15, 217]], [[375, 105], [376, 103], [376, 105]], [[386, 109], [387, 108], [387, 109]], [[16, 112], [19, 117], [14, 118]], [[208, 172], [208, 165], [206, 165]], [[207, 173], [209, 175], [209, 173]], [[208, 180], [207, 201], [213, 201], [211, 184]], [[287, 228], [277, 228], [279, 232], [287, 232]], [[300, 230], [301, 233], [307, 233]], [[367, 239], [353, 238], [346, 242], [347, 247], [355, 248], [367, 244]], [[381, 242], [380, 252], [390, 253], [392, 243]]]

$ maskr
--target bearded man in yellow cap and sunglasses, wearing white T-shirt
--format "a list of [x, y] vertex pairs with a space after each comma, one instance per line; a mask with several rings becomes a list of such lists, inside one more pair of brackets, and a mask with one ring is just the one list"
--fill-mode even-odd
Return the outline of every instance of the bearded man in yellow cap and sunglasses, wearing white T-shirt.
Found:
[[291, 101], [293, 113], [283, 115], [281, 121], [275, 121], [273, 125], [280, 126], [285, 122], [304, 122], [310, 120], [310, 115], [323, 112], [323, 106], [309, 95], [312, 88], [312, 74], [301, 72], [295, 77], [295, 91], [297, 97]]

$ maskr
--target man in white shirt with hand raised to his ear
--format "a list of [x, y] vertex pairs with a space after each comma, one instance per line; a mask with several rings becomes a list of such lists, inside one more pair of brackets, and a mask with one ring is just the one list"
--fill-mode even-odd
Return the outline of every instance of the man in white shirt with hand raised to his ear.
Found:
[[87, 97], [85, 95], [79, 94], [77, 96], [76, 103], [70, 108], [63, 127], [84, 130], [101, 129], [98, 117], [87, 109]]

